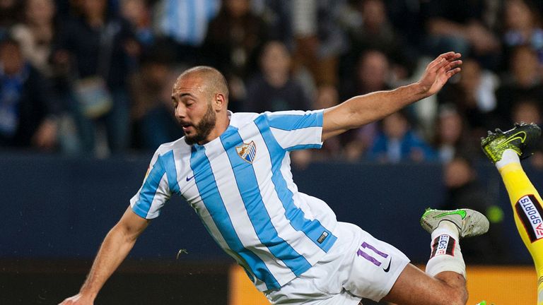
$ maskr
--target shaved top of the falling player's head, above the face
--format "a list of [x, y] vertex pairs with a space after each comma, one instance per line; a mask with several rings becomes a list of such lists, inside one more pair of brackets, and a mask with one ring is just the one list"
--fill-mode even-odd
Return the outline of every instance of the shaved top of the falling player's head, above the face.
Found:
[[228, 100], [228, 83], [226, 83], [226, 78], [223, 74], [216, 68], [210, 66], [195, 66], [194, 68], [189, 68], [177, 77], [174, 90], [187, 78], [197, 78], [201, 80], [201, 85], [204, 86], [204, 90], [206, 90], [211, 97], [220, 93]]

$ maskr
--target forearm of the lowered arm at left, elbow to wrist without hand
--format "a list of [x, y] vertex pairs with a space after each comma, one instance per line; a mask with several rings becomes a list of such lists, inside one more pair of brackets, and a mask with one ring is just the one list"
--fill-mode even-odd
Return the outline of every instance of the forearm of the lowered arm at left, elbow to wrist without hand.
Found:
[[80, 293], [96, 297], [107, 279], [119, 267], [134, 246], [136, 237], [131, 237], [118, 226], [107, 233], [94, 260], [93, 267], [81, 287]]

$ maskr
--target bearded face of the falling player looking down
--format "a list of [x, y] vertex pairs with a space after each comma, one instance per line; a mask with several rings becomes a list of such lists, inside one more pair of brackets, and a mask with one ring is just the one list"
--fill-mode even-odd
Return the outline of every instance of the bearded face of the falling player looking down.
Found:
[[216, 113], [211, 93], [200, 78], [185, 77], [173, 86], [172, 100], [175, 117], [185, 132], [185, 142], [209, 142], [209, 134], [216, 125]]

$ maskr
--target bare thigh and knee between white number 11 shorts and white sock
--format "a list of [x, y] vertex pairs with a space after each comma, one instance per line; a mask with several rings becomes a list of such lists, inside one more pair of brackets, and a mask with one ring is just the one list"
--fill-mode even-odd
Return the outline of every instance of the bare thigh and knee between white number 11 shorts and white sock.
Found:
[[464, 277], [453, 272], [440, 273], [438, 277], [443, 280], [430, 277], [409, 263], [383, 300], [402, 305], [464, 304]]

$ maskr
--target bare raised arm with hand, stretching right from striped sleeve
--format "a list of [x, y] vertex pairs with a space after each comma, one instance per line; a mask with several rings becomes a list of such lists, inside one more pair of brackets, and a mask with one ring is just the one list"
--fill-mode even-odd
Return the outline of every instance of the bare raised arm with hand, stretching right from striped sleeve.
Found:
[[395, 90], [358, 95], [325, 109], [322, 140], [383, 119], [408, 104], [436, 94], [449, 78], [460, 72], [460, 56], [455, 52], [441, 54], [426, 66], [424, 75], [416, 83]]

